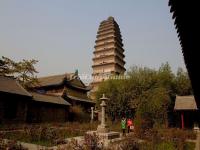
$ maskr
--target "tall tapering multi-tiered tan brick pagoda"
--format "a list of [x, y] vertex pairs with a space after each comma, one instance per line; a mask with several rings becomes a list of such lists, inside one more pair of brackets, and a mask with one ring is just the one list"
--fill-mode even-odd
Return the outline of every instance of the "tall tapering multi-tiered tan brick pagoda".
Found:
[[126, 71], [122, 36], [113, 17], [108, 17], [100, 23], [96, 37], [92, 65], [93, 91], [98, 89], [100, 82], [111, 75], [123, 75]]

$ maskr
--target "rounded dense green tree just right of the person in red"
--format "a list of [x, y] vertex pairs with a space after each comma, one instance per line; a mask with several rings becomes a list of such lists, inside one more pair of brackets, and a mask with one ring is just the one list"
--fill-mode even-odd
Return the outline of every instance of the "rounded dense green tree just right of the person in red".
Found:
[[142, 130], [153, 126], [167, 126], [170, 97], [163, 87], [153, 88], [143, 93], [136, 111], [136, 126]]

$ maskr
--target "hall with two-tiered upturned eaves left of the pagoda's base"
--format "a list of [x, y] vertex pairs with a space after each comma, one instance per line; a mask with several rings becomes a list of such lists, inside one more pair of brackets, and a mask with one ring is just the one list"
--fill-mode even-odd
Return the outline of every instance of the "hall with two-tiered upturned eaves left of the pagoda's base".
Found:
[[95, 105], [95, 102], [87, 96], [90, 88], [76, 73], [38, 78], [38, 84], [33, 87], [33, 90], [37, 93], [61, 96], [72, 106], [80, 105], [86, 112]]

